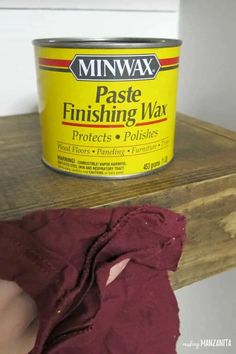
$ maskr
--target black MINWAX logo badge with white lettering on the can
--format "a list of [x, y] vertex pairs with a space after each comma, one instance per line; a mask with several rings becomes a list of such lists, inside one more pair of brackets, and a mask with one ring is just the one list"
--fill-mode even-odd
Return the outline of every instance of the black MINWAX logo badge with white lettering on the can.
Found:
[[154, 54], [75, 55], [70, 71], [82, 81], [133, 81], [154, 79], [160, 63]]

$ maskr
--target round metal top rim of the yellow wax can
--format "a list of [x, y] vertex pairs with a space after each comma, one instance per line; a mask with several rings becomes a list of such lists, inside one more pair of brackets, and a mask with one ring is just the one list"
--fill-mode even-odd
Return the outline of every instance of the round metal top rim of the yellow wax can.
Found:
[[53, 48], [163, 48], [179, 47], [180, 39], [115, 37], [115, 38], [39, 38], [33, 40], [37, 47]]

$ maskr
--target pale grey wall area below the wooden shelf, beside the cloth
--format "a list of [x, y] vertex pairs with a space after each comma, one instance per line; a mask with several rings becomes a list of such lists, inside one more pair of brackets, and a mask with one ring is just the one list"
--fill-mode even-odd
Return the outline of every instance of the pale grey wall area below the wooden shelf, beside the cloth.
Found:
[[[178, 354], [236, 353], [235, 277], [234, 268], [175, 291], [180, 309]], [[228, 339], [227, 346], [225, 342], [207, 347], [207, 339]]]

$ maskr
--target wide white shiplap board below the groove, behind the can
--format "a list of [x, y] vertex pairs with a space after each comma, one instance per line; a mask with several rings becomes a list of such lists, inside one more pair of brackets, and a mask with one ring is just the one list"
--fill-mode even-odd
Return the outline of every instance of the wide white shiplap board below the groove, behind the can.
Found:
[[176, 12], [0, 10], [0, 116], [37, 107], [32, 39], [177, 37]]

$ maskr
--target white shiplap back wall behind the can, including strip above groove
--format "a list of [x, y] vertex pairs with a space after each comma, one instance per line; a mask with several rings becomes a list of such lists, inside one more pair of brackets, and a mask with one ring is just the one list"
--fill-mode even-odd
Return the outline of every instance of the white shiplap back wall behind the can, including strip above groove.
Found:
[[178, 0], [0, 0], [0, 116], [37, 110], [32, 39], [178, 36]]

